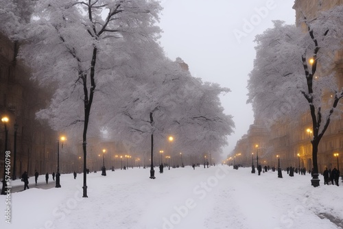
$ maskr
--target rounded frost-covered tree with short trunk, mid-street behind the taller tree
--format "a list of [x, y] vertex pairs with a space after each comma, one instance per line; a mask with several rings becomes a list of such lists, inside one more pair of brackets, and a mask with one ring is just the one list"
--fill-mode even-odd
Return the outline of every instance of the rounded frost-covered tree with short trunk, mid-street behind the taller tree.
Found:
[[[176, 138], [175, 149], [185, 152], [219, 152], [233, 132], [230, 115], [224, 114], [219, 95], [228, 92], [217, 84], [202, 84], [178, 62], [167, 60], [159, 47], [136, 49], [135, 63], [121, 69], [120, 83], [107, 82], [114, 93], [104, 99], [102, 119], [112, 138], [139, 152], [163, 147], [167, 136]], [[155, 51], [154, 51], [155, 50]], [[137, 60], [134, 60], [137, 59]], [[153, 162], [153, 160], [151, 160]], [[154, 178], [153, 165], [150, 178]]]

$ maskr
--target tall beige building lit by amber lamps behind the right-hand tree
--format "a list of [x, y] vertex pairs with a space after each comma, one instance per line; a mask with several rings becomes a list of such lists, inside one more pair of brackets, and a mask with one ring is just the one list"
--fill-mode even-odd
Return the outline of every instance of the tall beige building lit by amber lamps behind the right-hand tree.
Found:
[[[301, 23], [304, 15], [311, 20], [317, 16], [318, 12], [342, 4], [343, 0], [296, 0], [293, 7], [296, 10], [296, 25], [306, 29], [306, 25]], [[338, 85], [342, 87], [343, 51], [335, 53], [332, 68], [336, 73]], [[233, 155], [243, 155], [246, 158], [245, 165], [250, 166], [252, 153], [256, 151], [255, 146], [259, 145], [258, 148], [261, 148], [259, 163], [261, 165], [265, 163], [272, 167], [276, 165], [277, 156], [279, 156], [283, 169], [290, 166], [300, 166], [309, 171], [312, 168], [312, 146], [310, 143], [312, 125], [309, 113], [300, 117], [296, 124], [285, 125], [285, 122], [276, 122], [267, 129], [261, 128], [259, 123], [261, 123], [260, 120], [255, 120], [255, 123], [250, 126], [248, 134], [237, 142]], [[257, 126], [259, 128], [256, 128]], [[339, 154], [339, 156], [335, 157], [334, 154]], [[338, 166], [343, 169], [343, 117], [340, 120], [331, 121], [318, 147], [318, 170], [320, 173], [324, 171], [325, 167]]]

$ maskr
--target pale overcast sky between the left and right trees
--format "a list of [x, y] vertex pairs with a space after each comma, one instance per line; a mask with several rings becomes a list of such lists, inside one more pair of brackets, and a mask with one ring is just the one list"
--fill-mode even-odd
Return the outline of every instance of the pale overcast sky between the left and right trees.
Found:
[[194, 77], [230, 88], [221, 98], [233, 115], [235, 133], [228, 136], [229, 154], [254, 121], [246, 104], [248, 74], [255, 59], [255, 35], [272, 20], [295, 23], [294, 0], [162, 0], [161, 45], [171, 60], [182, 58]]

